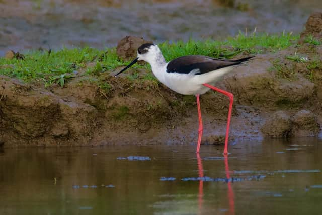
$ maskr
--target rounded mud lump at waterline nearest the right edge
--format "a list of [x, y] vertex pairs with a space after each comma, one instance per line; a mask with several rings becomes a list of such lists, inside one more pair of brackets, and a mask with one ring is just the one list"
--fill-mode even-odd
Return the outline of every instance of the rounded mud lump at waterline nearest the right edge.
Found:
[[315, 115], [309, 110], [300, 110], [294, 115], [292, 136], [316, 136], [320, 131], [320, 125]]

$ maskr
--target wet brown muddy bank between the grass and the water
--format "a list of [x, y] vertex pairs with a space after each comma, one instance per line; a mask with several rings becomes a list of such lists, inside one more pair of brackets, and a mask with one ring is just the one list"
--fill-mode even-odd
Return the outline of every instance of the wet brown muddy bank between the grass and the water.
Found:
[[[309, 18], [307, 25], [310, 20], [316, 22]], [[320, 31], [314, 34], [319, 39]], [[286, 50], [257, 55], [218, 83], [217, 87], [234, 94], [231, 142], [319, 134], [322, 44], [305, 38]], [[128, 40], [126, 47], [132, 42]], [[149, 71], [144, 69], [135, 78], [133, 70], [115, 78], [120, 68], [86, 73], [93, 66], [79, 69], [64, 87], [45, 88], [42, 82], [26, 84], [0, 76], [0, 142], [5, 146], [195, 144], [194, 96], [177, 94], [155, 79], [146, 79]], [[228, 98], [210, 91], [201, 96], [201, 108], [203, 143], [222, 144]]]

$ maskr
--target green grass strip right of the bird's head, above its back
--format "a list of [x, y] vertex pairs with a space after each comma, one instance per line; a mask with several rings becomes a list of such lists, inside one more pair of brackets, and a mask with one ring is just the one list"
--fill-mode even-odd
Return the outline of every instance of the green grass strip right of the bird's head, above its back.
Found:
[[282, 35], [239, 33], [236, 37], [228, 37], [225, 41], [206, 40], [159, 44], [167, 61], [185, 55], [206, 55], [210, 57], [231, 58], [240, 52], [258, 54], [276, 52], [292, 45], [299, 39], [291, 33]]

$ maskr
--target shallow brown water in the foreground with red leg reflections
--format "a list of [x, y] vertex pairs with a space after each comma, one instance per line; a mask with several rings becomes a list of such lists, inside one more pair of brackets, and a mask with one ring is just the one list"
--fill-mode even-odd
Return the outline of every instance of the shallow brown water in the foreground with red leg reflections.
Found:
[[194, 150], [3, 149], [0, 214], [320, 214], [322, 140]]

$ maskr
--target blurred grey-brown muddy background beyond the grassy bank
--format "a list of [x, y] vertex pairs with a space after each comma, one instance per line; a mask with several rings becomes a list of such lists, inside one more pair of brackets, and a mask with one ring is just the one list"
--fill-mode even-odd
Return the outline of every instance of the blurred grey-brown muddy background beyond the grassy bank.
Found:
[[0, 0], [0, 56], [38, 48], [222, 39], [241, 32], [299, 33], [321, 0]]

